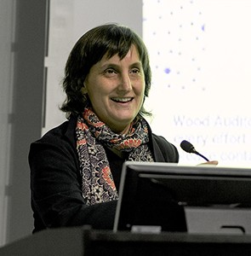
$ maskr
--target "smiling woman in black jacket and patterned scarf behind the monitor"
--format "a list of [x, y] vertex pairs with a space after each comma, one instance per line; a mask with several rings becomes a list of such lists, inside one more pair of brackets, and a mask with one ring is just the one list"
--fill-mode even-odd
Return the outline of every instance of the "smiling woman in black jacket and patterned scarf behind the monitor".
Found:
[[179, 160], [143, 117], [151, 87], [145, 44], [128, 27], [95, 27], [71, 50], [63, 85], [68, 120], [31, 143], [33, 231], [111, 229], [123, 162]]

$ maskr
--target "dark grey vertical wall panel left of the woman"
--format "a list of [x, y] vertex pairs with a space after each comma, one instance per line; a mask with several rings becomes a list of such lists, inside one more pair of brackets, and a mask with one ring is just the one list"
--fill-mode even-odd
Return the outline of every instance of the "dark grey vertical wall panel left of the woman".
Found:
[[16, 1], [7, 242], [31, 234], [30, 143], [41, 136], [46, 0]]

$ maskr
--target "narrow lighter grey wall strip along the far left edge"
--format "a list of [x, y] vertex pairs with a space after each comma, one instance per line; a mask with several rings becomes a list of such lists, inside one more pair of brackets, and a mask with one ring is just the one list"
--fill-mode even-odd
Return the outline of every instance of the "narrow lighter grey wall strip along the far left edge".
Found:
[[14, 35], [14, 1], [0, 1], [0, 246], [6, 242], [7, 205], [6, 189], [9, 185], [10, 130], [9, 114], [12, 104]]

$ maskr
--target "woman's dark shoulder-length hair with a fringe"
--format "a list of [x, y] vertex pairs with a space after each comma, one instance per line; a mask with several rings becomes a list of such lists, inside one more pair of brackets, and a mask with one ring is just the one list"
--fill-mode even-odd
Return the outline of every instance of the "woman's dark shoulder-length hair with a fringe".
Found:
[[[89, 103], [88, 96], [83, 95], [81, 89], [90, 68], [104, 55], [107, 55], [108, 58], [118, 55], [123, 59], [132, 44], [135, 45], [140, 55], [145, 74], [144, 95], [148, 96], [151, 87], [151, 67], [147, 49], [140, 36], [130, 28], [118, 24], [97, 26], [78, 39], [66, 61], [65, 78], [63, 79], [66, 101], [60, 109], [66, 112], [67, 117], [83, 113], [83, 109]], [[151, 115], [145, 111], [143, 106], [139, 114]]]

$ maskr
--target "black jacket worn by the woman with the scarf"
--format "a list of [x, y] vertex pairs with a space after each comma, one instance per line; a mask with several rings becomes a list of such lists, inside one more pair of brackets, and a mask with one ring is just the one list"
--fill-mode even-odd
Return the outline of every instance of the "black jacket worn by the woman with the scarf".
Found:
[[[31, 207], [33, 232], [46, 228], [89, 224], [112, 229], [117, 201], [94, 206], [84, 204], [82, 178], [76, 148], [77, 120], [71, 118], [31, 143]], [[157, 162], [179, 160], [177, 148], [150, 131], [150, 147]]]

